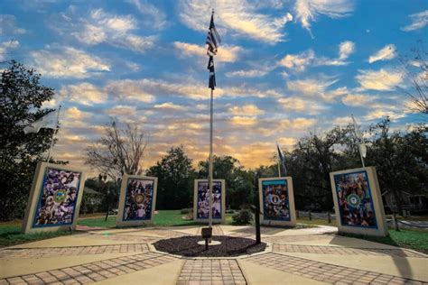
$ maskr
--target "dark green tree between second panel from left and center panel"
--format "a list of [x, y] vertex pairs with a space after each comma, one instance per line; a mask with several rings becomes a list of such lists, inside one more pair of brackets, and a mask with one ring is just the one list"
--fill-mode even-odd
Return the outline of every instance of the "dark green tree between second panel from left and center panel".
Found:
[[196, 173], [182, 145], [172, 147], [161, 161], [147, 170], [158, 178], [156, 208], [180, 209], [191, 205], [193, 179]]

